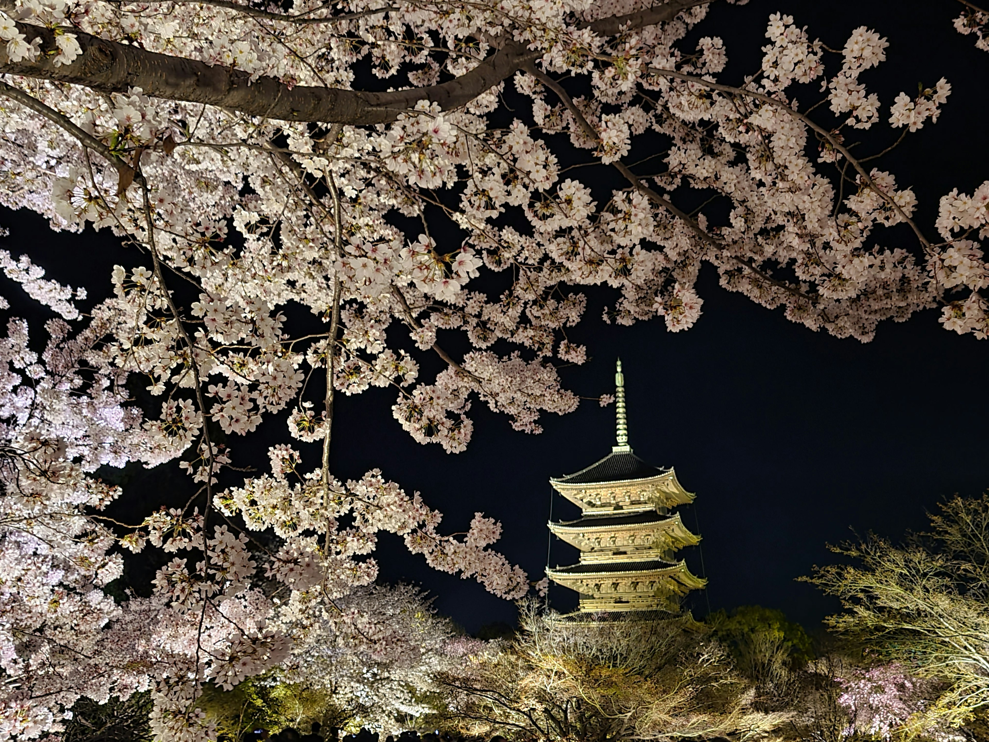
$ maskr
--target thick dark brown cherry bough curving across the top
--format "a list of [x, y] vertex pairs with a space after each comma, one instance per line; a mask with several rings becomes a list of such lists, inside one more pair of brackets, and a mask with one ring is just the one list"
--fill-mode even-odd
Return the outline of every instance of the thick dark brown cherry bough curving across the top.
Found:
[[[654, 26], [702, 4], [704, 0], [670, 0], [626, 16], [603, 18], [586, 27], [600, 36], [612, 36], [622, 26], [629, 29]], [[79, 31], [72, 33], [82, 53], [71, 64], [55, 66], [54, 55], [45, 53], [56, 48], [54, 32], [29, 24], [17, 26], [28, 44], [41, 40], [42, 53], [35, 60], [13, 62], [6, 45], [0, 45], [0, 73], [81, 85], [102, 93], [126, 94], [137, 87], [155, 98], [205, 103], [248, 116], [354, 126], [395, 121], [420, 100], [437, 103], [444, 111], [459, 108], [542, 56], [541, 51], [530, 50], [525, 44], [508, 42], [494, 49], [477, 67], [453, 80], [429, 87], [375, 93], [304, 85], [289, 87], [277, 78], [264, 76], [251, 81], [250, 75], [241, 70], [146, 51]]]

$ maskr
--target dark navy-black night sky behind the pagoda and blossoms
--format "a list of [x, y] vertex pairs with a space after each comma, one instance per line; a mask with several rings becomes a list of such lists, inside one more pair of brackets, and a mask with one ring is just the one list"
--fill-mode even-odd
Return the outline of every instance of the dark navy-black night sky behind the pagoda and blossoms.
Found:
[[[765, 20], [776, 10], [794, 15], [810, 27], [811, 38], [833, 47], [843, 46], [857, 26], [874, 28], [891, 46], [888, 61], [864, 78], [875, 83], [884, 112], [899, 90], [946, 77], [954, 92], [942, 119], [908, 138], [883, 165], [899, 183], [915, 187], [920, 224], [933, 236], [938, 197], [955, 186], [970, 193], [989, 177], [989, 54], [954, 33], [950, 19], [960, 7], [947, 0], [917, 6], [721, 4], [712, 6], [693, 37], [724, 38], [732, 60], [725, 79], [735, 83], [758, 69]], [[832, 59], [829, 69], [835, 67]], [[43, 221], [22, 213], [4, 212], [0, 224], [12, 231], [5, 247], [29, 252], [51, 277], [87, 285], [94, 295], [109, 286], [108, 265], [140, 262], [133, 250], [122, 253], [109, 234], [51, 234]], [[912, 244], [903, 232], [883, 233], [880, 240]], [[15, 298], [10, 282], [3, 284], [3, 294]], [[898, 537], [906, 528], [923, 527], [925, 510], [945, 495], [976, 495], [989, 487], [989, 343], [944, 331], [934, 312], [880, 325], [869, 343], [839, 340], [722, 291], [710, 268], [702, 272], [698, 292], [703, 317], [677, 334], [662, 322], [607, 327], [600, 309], [611, 295], [589, 292], [575, 339], [587, 343], [593, 357], [565, 370], [565, 381], [588, 397], [610, 392], [620, 355], [635, 452], [650, 463], [675, 466], [682, 485], [697, 493], [683, 517], [703, 536], [703, 569], [697, 549], [685, 553], [693, 571], [710, 581], [711, 607], [761, 603], [811, 627], [838, 606], [794, 578], [832, 559], [827, 542], [851, 536], [850, 527]], [[610, 450], [613, 409], [584, 403], [570, 416], [544, 417], [545, 431], [529, 436], [475, 404], [473, 442], [467, 452], [447, 455], [414, 443], [393, 420], [393, 402], [391, 391], [379, 389], [339, 398], [332, 453], [337, 476], [358, 477], [379, 467], [445, 512], [445, 530], [463, 529], [475, 510], [494, 515], [504, 525], [501, 550], [539, 579], [547, 557], [547, 480]], [[270, 444], [261, 442], [258, 452]], [[148, 473], [128, 496], [151, 504], [176, 481]], [[554, 516], [576, 514], [562, 498], [555, 500]], [[469, 630], [513, 620], [511, 603], [472, 580], [432, 572], [419, 557], [409, 558], [398, 538], [384, 539], [379, 556], [382, 579], [421, 582], [438, 597], [438, 608]], [[553, 563], [572, 560], [576, 552], [556, 541]], [[551, 596], [560, 608], [576, 603], [562, 589]], [[694, 604], [696, 614], [706, 612], [702, 596]]]

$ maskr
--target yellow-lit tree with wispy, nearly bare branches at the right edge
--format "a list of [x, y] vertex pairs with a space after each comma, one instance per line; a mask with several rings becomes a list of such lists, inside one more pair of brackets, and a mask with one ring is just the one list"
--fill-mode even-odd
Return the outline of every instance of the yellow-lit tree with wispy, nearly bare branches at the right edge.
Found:
[[848, 608], [830, 625], [886, 663], [846, 674], [841, 702], [857, 730], [946, 739], [989, 704], [989, 495], [942, 510], [902, 545], [873, 536], [834, 547], [853, 563], [810, 578]]

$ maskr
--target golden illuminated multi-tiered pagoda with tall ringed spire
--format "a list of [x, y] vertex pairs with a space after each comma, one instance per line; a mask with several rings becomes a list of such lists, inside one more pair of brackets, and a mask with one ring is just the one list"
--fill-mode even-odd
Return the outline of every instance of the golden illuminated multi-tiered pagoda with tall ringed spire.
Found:
[[580, 520], [549, 523], [554, 534], [581, 550], [581, 561], [547, 568], [546, 575], [580, 593], [582, 612], [675, 613], [684, 595], [706, 584], [682, 560], [674, 561], [674, 552], [700, 540], [673, 511], [694, 496], [680, 487], [673, 468], [651, 466], [632, 453], [620, 360], [615, 386], [617, 445], [587, 468], [550, 480], [582, 511]]

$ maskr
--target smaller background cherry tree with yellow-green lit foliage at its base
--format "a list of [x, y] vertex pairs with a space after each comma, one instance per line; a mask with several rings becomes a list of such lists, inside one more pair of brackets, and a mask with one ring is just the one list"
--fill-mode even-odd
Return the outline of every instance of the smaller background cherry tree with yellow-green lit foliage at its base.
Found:
[[485, 649], [440, 616], [432, 600], [407, 585], [356, 588], [341, 612], [302, 630], [278, 668], [230, 690], [209, 687], [199, 702], [218, 732], [240, 739], [252, 729], [323, 727], [382, 734], [411, 729], [431, 713], [433, 676], [459, 668]]

